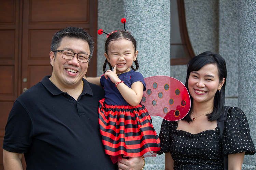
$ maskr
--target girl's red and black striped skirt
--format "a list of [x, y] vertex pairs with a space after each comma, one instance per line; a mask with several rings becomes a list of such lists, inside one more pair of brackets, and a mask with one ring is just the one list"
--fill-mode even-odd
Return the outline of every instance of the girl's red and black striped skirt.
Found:
[[99, 125], [105, 152], [111, 155], [113, 163], [120, 155], [149, 157], [160, 150], [160, 140], [143, 105], [110, 106], [102, 99]]

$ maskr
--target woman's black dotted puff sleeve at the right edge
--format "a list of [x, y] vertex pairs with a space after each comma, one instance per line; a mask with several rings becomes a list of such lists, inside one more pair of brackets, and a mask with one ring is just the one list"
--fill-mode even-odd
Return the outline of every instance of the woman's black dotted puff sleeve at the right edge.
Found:
[[224, 154], [245, 152], [245, 155], [253, 155], [256, 152], [247, 118], [240, 108], [231, 107], [228, 111], [222, 146]]

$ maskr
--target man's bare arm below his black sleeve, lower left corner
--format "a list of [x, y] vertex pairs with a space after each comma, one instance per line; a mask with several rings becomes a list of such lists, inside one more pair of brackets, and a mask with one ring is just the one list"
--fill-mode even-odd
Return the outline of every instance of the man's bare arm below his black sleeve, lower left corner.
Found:
[[23, 153], [14, 153], [3, 150], [3, 167], [5, 170], [23, 170], [22, 159]]

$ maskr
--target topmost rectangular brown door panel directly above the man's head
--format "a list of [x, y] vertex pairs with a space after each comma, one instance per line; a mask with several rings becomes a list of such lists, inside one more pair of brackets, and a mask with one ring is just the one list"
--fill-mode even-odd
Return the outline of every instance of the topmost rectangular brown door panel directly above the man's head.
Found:
[[31, 0], [29, 23], [89, 22], [89, 0]]

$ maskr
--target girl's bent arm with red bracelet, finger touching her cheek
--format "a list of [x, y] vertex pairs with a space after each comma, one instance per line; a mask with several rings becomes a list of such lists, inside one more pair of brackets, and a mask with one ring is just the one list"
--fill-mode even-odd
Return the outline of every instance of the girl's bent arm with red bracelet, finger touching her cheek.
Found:
[[[121, 80], [116, 75], [116, 65], [113, 71], [111, 70], [106, 71], [104, 76], [106, 79], [110, 78], [110, 80], [115, 84], [118, 82], [121, 82]], [[127, 101], [127, 103], [129, 103], [132, 106], [137, 106], [138, 104], [140, 104], [142, 95], [143, 95], [143, 88], [144, 88], [142, 82], [138, 81], [138, 82], [132, 83], [131, 88], [125, 85], [124, 83], [119, 83], [117, 84], [116, 87], [119, 90], [120, 94], [125, 99], [125, 101]]]

